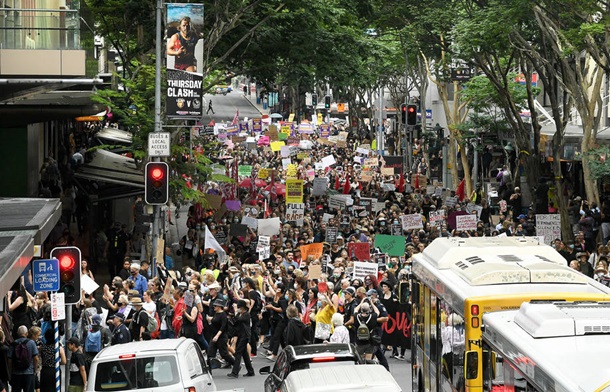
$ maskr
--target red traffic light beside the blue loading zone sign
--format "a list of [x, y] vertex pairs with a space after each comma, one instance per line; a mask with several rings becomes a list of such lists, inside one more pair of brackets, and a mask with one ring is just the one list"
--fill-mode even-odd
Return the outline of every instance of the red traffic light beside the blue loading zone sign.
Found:
[[81, 255], [76, 246], [53, 248], [51, 258], [59, 260], [59, 292], [64, 293], [66, 304], [81, 300]]

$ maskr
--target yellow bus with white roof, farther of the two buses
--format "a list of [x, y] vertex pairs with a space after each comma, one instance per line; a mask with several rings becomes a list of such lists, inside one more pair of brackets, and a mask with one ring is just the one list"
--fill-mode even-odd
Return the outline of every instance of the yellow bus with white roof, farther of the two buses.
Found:
[[532, 300], [610, 300], [610, 288], [569, 268], [534, 237], [438, 238], [413, 257], [411, 271], [411, 364], [418, 392], [491, 391], [483, 384], [486, 313]]

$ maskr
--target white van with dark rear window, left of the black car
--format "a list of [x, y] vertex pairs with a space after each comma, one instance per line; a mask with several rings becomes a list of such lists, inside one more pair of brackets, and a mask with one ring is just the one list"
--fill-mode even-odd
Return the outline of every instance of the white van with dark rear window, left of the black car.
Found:
[[87, 391], [213, 392], [205, 356], [192, 339], [117, 344], [91, 362]]

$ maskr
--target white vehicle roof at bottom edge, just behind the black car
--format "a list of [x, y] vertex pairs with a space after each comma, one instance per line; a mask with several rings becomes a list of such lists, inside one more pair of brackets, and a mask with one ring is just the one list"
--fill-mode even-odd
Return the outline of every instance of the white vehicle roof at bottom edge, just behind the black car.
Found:
[[[320, 380], [324, 380], [323, 383]], [[281, 392], [402, 392], [394, 377], [381, 365], [316, 367], [291, 372]]]

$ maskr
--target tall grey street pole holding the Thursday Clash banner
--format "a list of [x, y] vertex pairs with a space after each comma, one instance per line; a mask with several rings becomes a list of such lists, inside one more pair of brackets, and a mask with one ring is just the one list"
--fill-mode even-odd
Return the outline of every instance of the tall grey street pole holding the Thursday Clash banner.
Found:
[[[155, 129], [154, 132], [161, 132], [161, 11], [163, 0], [157, 0], [155, 29]], [[154, 157], [153, 162], [159, 162], [161, 158]], [[159, 228], [161, 227], [161, 206], [153, 206], [153, 228], [152, 228], [152, 254], [157, 255], [157, 242], [159, 240]], [[157, 272], [157, 263], [163, 260], [155, 260], [151, 268], [151, 276], [154, 278]]]

